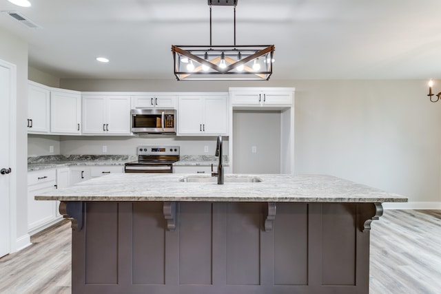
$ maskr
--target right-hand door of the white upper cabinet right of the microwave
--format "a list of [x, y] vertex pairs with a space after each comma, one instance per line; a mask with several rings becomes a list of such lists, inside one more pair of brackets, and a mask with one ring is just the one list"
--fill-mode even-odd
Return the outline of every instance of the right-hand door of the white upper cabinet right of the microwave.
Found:
[[228, 107], [226, 96], [207, 96], [204, 104], [204, 128], [206, 135], [225, 135], [228, 129]]

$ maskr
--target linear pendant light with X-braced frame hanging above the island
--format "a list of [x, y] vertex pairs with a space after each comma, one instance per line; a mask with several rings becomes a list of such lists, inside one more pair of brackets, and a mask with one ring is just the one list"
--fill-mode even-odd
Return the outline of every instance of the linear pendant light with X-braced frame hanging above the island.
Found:
[[[274, 45], [236, 45], [238, 0], [208, 0], [209, 45], [172, 45], [178, 81], [268, 81]], [[212, 6], [234, 6], [234, 45], [212, 45]]]

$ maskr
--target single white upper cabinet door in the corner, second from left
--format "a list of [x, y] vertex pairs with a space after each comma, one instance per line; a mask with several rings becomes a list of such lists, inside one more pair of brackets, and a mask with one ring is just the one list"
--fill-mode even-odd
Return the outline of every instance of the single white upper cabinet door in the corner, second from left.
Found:
[[52, 91], [50, 94], [50, 132], [80, 134], [80, 92]]

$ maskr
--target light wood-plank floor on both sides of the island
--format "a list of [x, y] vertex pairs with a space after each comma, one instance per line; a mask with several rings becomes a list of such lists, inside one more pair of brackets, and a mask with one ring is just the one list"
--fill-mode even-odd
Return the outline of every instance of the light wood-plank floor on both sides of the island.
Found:
[[[70, 293], [70, 221], [0, 258], [0, 293]], [[441, 293], [441, 211], [387, 210], [371, 230], [371, 294]]]

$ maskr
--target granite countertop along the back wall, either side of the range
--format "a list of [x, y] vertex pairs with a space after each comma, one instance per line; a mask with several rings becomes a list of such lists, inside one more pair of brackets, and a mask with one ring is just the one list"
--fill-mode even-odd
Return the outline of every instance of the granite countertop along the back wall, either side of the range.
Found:
[[[39, 171], [43, 169], [56, 169], [72, 166], [102, 166], [102, 165], [124, 165], [125, 162], [138, 160], [135, 155], [50, 155], [33, 156], [28, 158], [28, 171]], [[181, 160], [174, 165], [179, 166], [209, 166], [217, 165], [216, 156], [205, 155], [183, 155]], [[224, 166], [228, 166], [228, 156], [223, 156]]]

